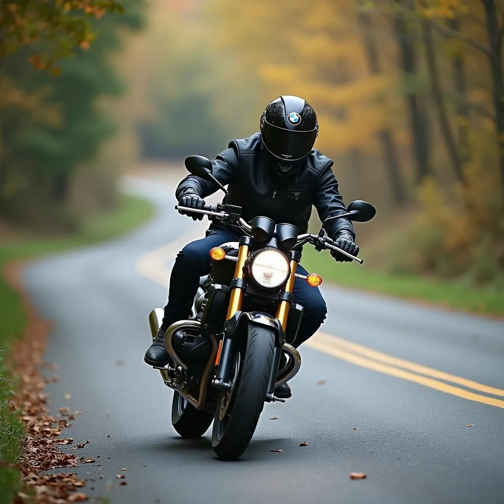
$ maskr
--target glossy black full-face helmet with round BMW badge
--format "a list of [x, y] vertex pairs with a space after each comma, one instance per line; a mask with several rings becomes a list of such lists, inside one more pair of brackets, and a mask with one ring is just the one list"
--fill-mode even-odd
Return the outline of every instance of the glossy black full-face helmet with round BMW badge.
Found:
[[282, 161], [306, 157], [319, 134], [317, 114], [298, 96], [280, 96], [261, 116], [261, 138], [266, 148]]

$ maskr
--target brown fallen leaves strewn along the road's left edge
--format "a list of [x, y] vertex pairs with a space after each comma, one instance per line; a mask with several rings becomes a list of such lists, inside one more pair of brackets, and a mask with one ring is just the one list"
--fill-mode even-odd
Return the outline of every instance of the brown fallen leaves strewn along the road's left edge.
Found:
[[[85, 485], [85, 480], [75, 473], [53, 473], [46, 471], [56, 468], [77, 467], [76, 455], [60, 451], [61, 445], [73, 444], [71, 437], [61, 436], [61, 432], [70, 426], [70, 410], [59, 410], [59, 415], [50, 413], [47, 406], [49, 395], [45, 390], [47, 382], [56, 383], [59, 377], [53, 374], [50, 380], [41, 374], [42, 369], [54, 372], [55, 364], [43, 360], [47, 348], [47, 334], [51, 325], [40, 319], [22, 289], [19, 271], [22, 263], [11, 265], [6, 270], [6, 278], [11, 285], [21, 292], [27, 327], [24, 338], [11, 348], [13, 372], [17, 377], [15, 395], [10, 401], [12, 411], [19, 412], [26, 437], [18, 468], [22, 475], [24, 488], [14, 502], [36, 504], [62, 504], [88, 499], [83, 492], [76, 492]], [[75, 412], [74, 415], [81, 412]], [[27, 496], [33, 493], [33, 495]]]

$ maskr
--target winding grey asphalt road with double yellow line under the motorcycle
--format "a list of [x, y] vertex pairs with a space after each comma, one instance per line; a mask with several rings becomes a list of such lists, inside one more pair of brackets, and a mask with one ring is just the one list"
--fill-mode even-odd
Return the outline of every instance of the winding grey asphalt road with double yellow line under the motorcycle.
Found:
[[[177, 437], [172, 392], [143, 362], [147, 317], [166, 299], [172, 254], [163, 254], [201, 224], [173, 211], [169, 182], [128, 185], [156, 202], [149, 224], [24, 271], [32, 299], [55, 322], [46, 357], [59, 367], [59, 383], [49, 386], [52, 407], [83, 411], [66, 435], [90, 439], [81, 456], [99, 456], [76, 469], [91, 479], [90, 496], [117, 503], [504, 502], [504, 323], [374, 295], [323, 289], [326, 334], [301, 347], [293, 397], [265, 406], [241, 461], [217, 461], [210, 430], [196, 441]], [[158, 275], [160, 258], [167, 263]], [[126, 486], [118, 485], [120, 472]], [[367, 478], [350, 480], [351, 472]]]

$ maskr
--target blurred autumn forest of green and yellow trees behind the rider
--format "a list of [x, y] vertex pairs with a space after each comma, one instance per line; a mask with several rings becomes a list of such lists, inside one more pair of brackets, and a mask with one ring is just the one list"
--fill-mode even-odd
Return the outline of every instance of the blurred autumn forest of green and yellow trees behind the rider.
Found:
[[378, 210], [372, 267], [504, 292], [502, 0], [55, 0], [91, 19], [75, 50], [9, 48], [20, 3], [0, 2], [4, 227], [75, 231], [120, 173], [215, 157], [295, 94], [345, 202]]

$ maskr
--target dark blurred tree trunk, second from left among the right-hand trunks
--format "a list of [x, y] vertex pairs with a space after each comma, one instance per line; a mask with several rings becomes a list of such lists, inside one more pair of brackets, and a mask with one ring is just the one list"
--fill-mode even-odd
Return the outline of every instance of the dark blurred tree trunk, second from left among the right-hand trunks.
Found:
[[[396, 1], [399, 5], [403, 5], [403, 0]], [[394, 20], [394, 29], [401, 49], [402, 70], [407, 77], [413, 78], [416, 73], [416, 57], [412, 34], [406, 22], [400, 17]], [[430, 174], [427, 107], [425, 100], [422, 100], [416, 93], [411, 91], [407, 92], [406, 106], [409, 111], [413, 153], [417, 169], [416, 178], [417, 182], [420, 182], [422, 178]]]

